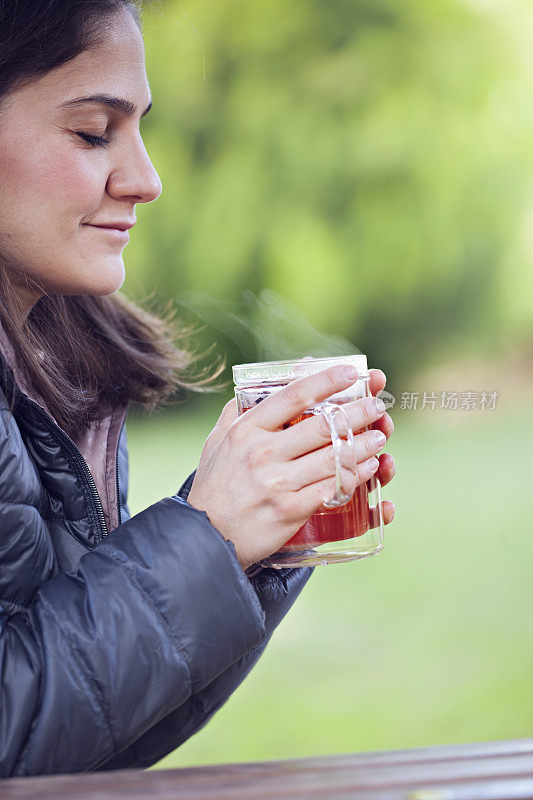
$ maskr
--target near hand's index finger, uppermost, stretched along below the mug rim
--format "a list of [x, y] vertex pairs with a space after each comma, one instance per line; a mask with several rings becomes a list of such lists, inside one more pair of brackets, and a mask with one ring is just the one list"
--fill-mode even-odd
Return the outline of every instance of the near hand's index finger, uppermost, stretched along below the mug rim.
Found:
[[347, 389], [356, 379], [355, 367], [345, 365], [291, 381], [247, 411], [247, 424], [253, 423], [269, 431], [278, 430], [332, 394]]

